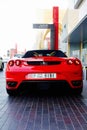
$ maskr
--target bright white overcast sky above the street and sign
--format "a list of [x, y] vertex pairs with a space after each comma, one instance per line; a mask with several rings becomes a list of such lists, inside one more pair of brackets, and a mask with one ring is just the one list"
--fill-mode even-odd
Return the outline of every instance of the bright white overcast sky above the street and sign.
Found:
[[0, 55], [18, 44], [20, 51], [33, 49], [36, 8], [67, 7], [67, 0], [0, 0]]

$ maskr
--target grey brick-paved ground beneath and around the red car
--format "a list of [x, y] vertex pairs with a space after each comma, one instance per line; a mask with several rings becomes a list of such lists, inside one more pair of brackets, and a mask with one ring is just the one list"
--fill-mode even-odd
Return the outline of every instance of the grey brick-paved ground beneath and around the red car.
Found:
[[0, 130], [87, 130], [87, 81], [81, 96], [9, 97], [0, 72]]

